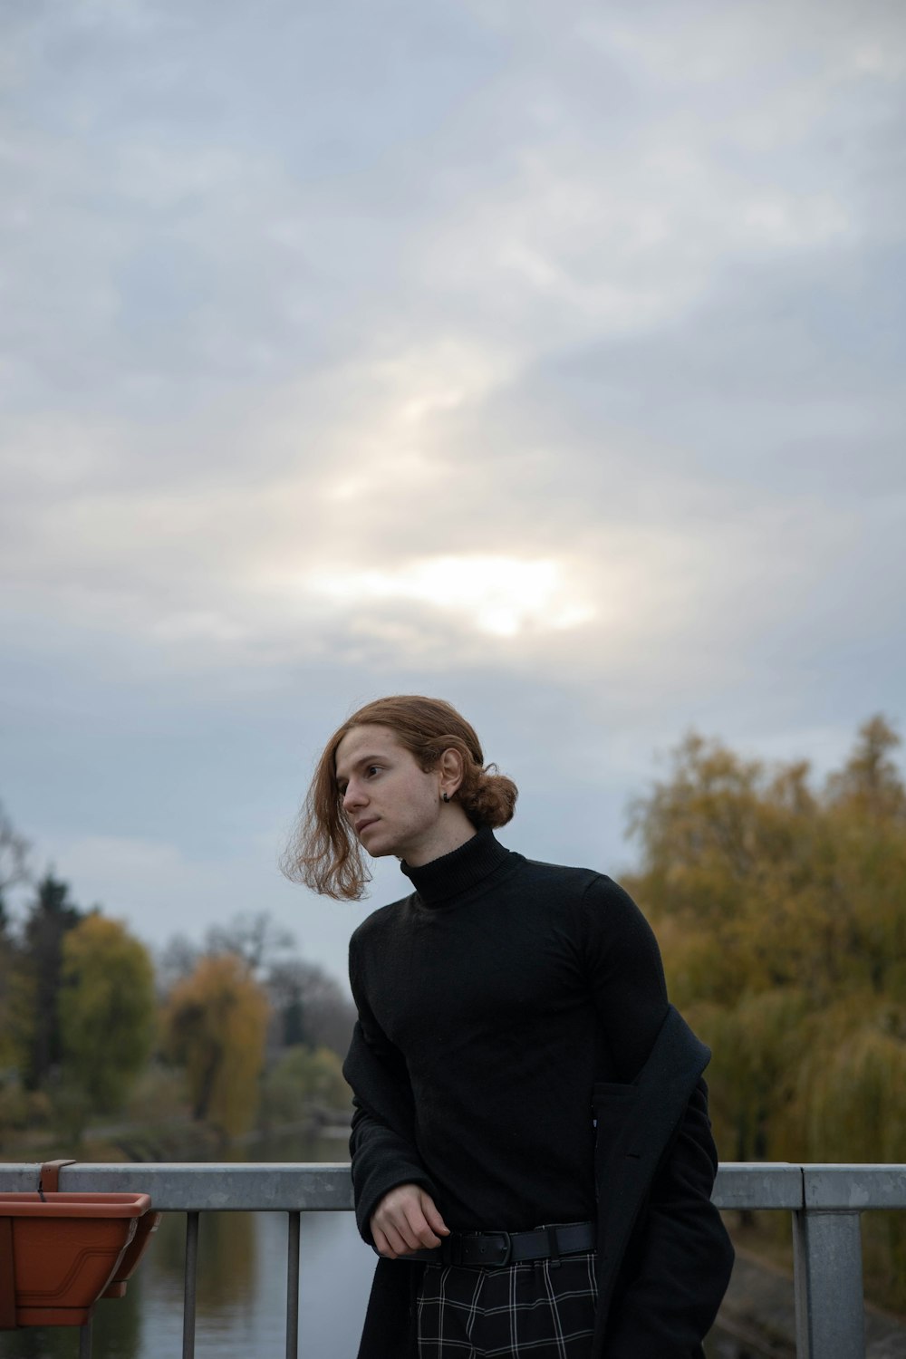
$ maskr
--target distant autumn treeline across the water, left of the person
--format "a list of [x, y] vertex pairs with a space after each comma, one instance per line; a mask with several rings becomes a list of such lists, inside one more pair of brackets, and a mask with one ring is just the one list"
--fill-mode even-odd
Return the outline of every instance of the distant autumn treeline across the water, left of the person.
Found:
[[52, 872], [33, 881], [0, 807], [0, 1155], [73, 1151], [83, 1136], [156, 1155], [193, 1144], [186, 1123], [217, 1143], [342, 1117], [353, 1019], [338, 983], [266, 915], [152, 958]]

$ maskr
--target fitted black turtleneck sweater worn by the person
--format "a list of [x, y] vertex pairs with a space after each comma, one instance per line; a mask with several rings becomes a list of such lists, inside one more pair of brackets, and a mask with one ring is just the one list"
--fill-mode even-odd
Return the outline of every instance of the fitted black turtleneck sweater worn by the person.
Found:
[[359, 1220], [403, 1182], [454, 1230], [595, 1216], [595, 1080], [630, 1082], [667, 1014], [651, 927], [610, 878], [534, 863], [482, 829], [413, 868], [349, 947], [375, 1072], [410, 1137], [357, 1101]]

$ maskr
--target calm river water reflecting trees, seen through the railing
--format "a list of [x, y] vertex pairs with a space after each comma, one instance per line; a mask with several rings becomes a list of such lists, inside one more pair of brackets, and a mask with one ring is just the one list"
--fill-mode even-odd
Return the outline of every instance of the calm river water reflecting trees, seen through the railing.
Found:
[[[342, 1143], [254, 1147], [255, 1161], [338, 1161]], [[98, 1303], [92, 1359], [181, 1359], [185, 1215], [166, 1214], [128, 1286]], [[353, 1359], [374, 1272], [349, 1212], [302, 1218], [300, 1359]], [[202, 1214], [198, 1241], [198, 1359], [284, 1359], [287, 1218]], [[765, 1351], [767, 1354], [767, 1351]], [[77, 1332], [0, 1332], [0, 1359], [75, 1359]], [[709, 1359], [759, 1359], [728, 1336], [709, 1340]]]

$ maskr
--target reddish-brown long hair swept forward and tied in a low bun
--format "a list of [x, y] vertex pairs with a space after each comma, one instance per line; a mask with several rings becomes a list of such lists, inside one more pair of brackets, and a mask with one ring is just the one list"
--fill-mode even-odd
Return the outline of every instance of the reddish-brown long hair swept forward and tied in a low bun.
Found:
[[496, 765], [485, 765], [474, 728], [451, 704], [421, 694], [394, 694], [367, 703], [325, 746], [280, 860], [292, 882], [337, 901], [361, 900], [371, 879], [337, 787], [337, 747], [348, 731], [365, 724], [388, 727], [424, 771], [433, 769], [444, 750], [458, 750], [463, 776], [454, 798], [474, 826], [504, 826], [516, 806], [516, 784], [497, 773]]

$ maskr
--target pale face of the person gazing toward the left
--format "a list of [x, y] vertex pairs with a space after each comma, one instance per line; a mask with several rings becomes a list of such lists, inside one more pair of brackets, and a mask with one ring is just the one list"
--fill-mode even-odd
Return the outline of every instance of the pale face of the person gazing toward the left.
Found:
[[336, 757], [342, 807], [369, 855], [435, 858], [441, 839], [441, 772], [425, 773], [390, 727], [353, 727]]

